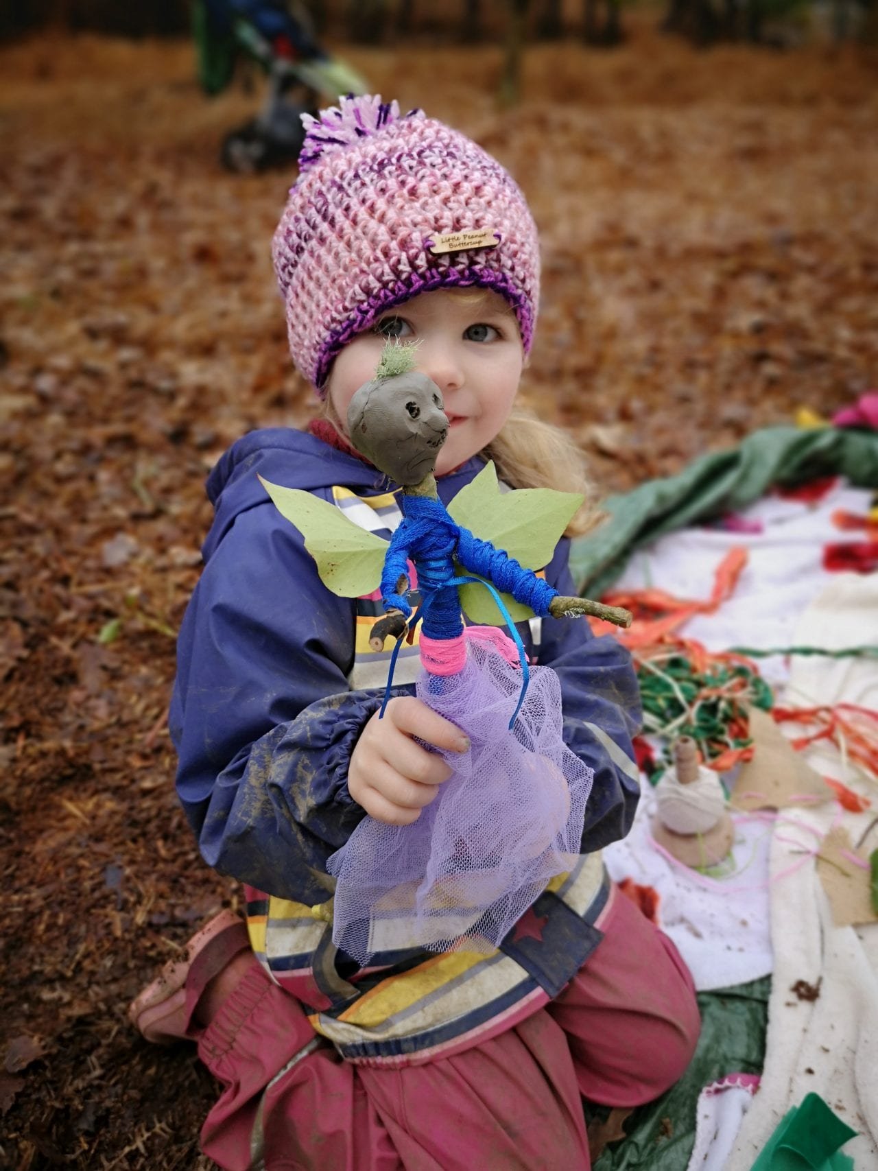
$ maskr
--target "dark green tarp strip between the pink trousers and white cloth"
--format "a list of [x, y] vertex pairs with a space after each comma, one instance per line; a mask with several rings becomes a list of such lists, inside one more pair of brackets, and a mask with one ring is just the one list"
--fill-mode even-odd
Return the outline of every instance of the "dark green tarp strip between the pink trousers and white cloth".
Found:
[[[695, 1145], [695, 1108], [705, 1086], [727, 1074], [759, 1074], [766, 1059], [771, 978], [715, 992], [699, 992], [701, 1036], [679, 1082], [638, 1107], [624, 1124], [626, 1138], [605, 1148], [594, 1171], [681, 1171]], [[585, 1104], [587, 1118], [606, 1108]]]

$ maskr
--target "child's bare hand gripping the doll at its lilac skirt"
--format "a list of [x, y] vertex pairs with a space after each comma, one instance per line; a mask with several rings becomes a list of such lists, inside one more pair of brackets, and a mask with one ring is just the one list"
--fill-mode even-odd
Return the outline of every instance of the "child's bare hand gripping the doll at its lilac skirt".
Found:
[[391, 699], [369, 720], [348, 767], [348, 792], [376, 821], [410, 826], [451, 776], [441, 756], [412, 739], [447, 752], [466, 752], [469, 740], [460, 728], [414, 696]]

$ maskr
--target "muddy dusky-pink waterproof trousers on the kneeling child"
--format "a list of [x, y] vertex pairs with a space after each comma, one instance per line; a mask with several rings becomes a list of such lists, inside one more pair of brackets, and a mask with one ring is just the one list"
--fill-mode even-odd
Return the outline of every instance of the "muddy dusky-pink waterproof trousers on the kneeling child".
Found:
[[613, 888], [604, 939], [556, 1000], [424, 1066], [345, 1062], [256, 960], [199, 1040], [225, 1089], [201, 1132], [228, 1171], [588, 1171], [581, 1095], [639, 1105], [700, 1020], [671, 940]]

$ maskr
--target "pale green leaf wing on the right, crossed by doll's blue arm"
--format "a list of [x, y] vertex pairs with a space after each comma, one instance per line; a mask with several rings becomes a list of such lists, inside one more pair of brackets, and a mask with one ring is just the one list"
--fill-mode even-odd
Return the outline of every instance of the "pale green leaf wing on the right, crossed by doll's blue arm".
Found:
[[[581, 507], [578, 492], [553, 488], [513, 488], [501, 492], [493, 463], [487, 464], [448, 505], [455, 523], [482, 541], [505, 549], [526, 569], [542, 569], [551, 561], [555, 546]], [[461, 574], [467, 570], [458, 567]], [[475, 575], [473, 575], [475, 576]], [[500, 595], [513, 622], [533, 618], [528, 605], [509, 594]], [[496, 603], [483, 586], [461, 586], [460, 604], [468, 618], [482, 625], [506, 625]]]

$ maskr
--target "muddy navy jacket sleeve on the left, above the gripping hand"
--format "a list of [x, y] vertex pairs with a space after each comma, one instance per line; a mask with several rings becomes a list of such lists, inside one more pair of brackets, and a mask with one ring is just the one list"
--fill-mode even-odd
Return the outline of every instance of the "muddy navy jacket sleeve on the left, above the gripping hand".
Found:
[[177, 790], [205, 861], [310, 904], [363, 816], [348, 762], [382, 696], [349, 691], [352, 602], [330, 594], [273, 505], [243, 512], [205, 567], [178, 644]]

